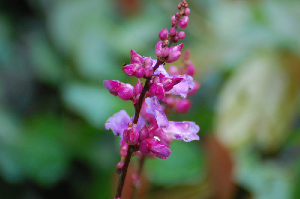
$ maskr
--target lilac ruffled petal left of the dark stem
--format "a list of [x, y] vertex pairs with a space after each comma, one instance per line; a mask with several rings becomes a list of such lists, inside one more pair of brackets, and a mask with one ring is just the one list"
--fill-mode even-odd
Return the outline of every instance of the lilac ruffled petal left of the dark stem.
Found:
[[131, 122], [131, 118], [128, 116], [125, 110], [121, 110], [106, 121], [105, 128], [107, 130], [113, 130], [115, 135], [123, 138], [123, 132], [128, 128], [129, 122]]

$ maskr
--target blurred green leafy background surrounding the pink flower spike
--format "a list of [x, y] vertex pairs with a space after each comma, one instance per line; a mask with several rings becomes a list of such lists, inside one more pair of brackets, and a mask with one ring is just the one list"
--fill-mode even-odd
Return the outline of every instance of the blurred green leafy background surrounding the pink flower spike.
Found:
[[[0, 2], [1, 199], [114, 197], [119, 138], [104, 123], [134, 109], [102, 82], [136, 81], [130, 49], [155, 57], [178, 3]], [[201, 140], [148, 159], [138, 198], [300, 198], [299, 1], [188, 3], [201, 88], [169, 119], [195, 121]]]

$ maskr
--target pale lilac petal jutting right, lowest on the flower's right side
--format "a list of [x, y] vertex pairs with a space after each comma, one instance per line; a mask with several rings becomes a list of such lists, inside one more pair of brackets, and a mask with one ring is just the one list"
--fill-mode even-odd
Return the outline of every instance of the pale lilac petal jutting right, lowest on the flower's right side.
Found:
[[171, 138], [183, 140], [185, 142], [190, 142], [192, 140], [199, 140], [197, 133], [200, 127], [191, 121], [175, 122], [169, 121], [167, 128], [164, 128], [165, 133], [167, 133]]

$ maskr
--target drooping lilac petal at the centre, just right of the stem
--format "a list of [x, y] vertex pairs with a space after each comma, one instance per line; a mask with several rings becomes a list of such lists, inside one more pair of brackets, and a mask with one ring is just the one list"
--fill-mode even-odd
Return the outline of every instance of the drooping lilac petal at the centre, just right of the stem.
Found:
[[146, 112], [149, 113], [157, 120], [159, 127], [167, 127], [168, 119], [164, 112], [163, 107], [159, 104], [159, 101], [156, 97], [148, 97], [145, 99], [145, 103], [148, 105]]

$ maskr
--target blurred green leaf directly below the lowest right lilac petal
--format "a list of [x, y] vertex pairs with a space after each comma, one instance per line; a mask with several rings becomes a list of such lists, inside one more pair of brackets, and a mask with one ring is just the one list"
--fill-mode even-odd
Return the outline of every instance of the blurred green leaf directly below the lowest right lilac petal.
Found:
[[[167, 159], [146, 160], [145, 172], [158, 185], [173, 186], [199, 183], [205, 176], [203, 151], [195, 150], [196, 143], [174, 141]], [[197, 148], [197, 147], [196, 147]]]

